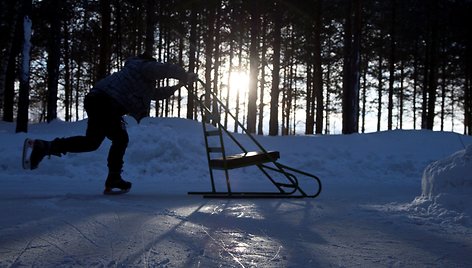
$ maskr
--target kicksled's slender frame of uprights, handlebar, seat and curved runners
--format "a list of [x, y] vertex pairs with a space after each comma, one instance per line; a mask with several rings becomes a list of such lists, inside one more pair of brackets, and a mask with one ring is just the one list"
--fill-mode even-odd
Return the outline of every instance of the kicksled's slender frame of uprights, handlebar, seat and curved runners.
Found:
[[[205, 88], [205, 83], [198, 80]], [[193, 96], [189, 93], [189, 97]], [[289, 167], [279, 163], [280, 153], [277, 151], [267, 151], [246, 128], [237, 120], [237, 118], [229, 111], [224, 103], [216, 96], [214, 92], [210, 93], [213, 100], [213, 107], [218, 107], [215, 111], [205, 105], [205, 94], [195, 101], [200, 107], [202, 116], [203, 135], [205, 139], [206, 154], [208, 160], [208, 169], [210, 172], [211, 191], [208, 192], [188, 192], [190, 195], [202, 195], [205, 198], [304, 198], [317, 197], [321, 193], [320, 179], [308, 172]], [[248, 151], [235, 135], [229, 132], [220, 122], [220, 110], [225, 111], [241, 128], [249, 140], [258, 148], [257, 151]], [[209, 127], [207, 122], [212, 121], [214, 128]], [[240, 154], [227, 155], [224, 146], [223, 133], [229, 137], [242, 151]], [[217, 139], [219, 147], [210, 146], [210, 139]], [[215, 158], [214, 155], [219, 154], [221, 157]], [[231, 189], [229, 170], [248, 166], [256, 166], [263, 175], [275, 186], [273, 192], [234, 192]], [[226, 191], [217, 191], [215, 186], [214, 170], [222, 170], [225, 174]], [[276, 180], [273, 174], [277, 174], [284, 180], [280, 182]], [[313, 193], [307, 194], [302, 190], [296, 176], [304, 176], [311, 178], [316, 182], [316, 189]]]

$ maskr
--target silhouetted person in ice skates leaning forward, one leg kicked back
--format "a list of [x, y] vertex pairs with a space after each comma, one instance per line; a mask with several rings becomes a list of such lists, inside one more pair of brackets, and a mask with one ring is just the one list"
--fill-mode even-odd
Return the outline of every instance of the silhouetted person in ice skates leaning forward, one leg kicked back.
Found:
[[[179, 83], [156, 88], [156, 80], [164, 78], [174, 78]], [[30, 168], [36, 169], [45, 156], [95, 151], [106, 137], [111, 140], [111, 147], [104, 194], [129, 191], [131, 182], [121, 177], [129, 141], [123, 116], [129, 114], [139, 123], [149, 114], [151, 100], [169, 98], [179, 87], [196, 79], [195, 74], [178, 65], [157, 62], [147, 52], [128, 58], [120, 71], [98, 81], [85, 96], [84, 108], [88, 115], [85, 136], [34, 140]]]

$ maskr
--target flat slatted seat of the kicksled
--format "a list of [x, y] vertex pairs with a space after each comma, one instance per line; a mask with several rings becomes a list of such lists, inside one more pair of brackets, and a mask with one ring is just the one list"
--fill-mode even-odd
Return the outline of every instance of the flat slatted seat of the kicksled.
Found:
[[267, 162], [273, 162], [280, 158], [277, 151], [247, 152], [226, 156], [223, 158], [214, 158], [210, 160], [210, 167], [219, 170], [242, 168], [247, 166], [259, 165]]

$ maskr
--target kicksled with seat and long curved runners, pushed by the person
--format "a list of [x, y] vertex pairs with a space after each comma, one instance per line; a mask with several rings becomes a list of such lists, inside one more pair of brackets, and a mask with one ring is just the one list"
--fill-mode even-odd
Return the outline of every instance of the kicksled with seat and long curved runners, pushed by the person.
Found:
[[[202, 80], [198, 80], [198, 82], [206, 88]], [[211, 191], [188, 192], [188, 194], [202, 195], [205, 198], [314, 198], [321, 193], [321, 181], [317, 176], [281, 164], [278, 161], [280, 152], [266, 150], [214, 92], [203, 94], [199, 98], [191, 93], [189, 96], [194, 98], [201, 111]], [[224, 122], [221, 120], [221, 115], [225, 116]], [[232, 133], [228, 130], [228, 118], [232, 119], [234, 126], [239, 128], [242, 134]], [[242, 141], [242, 138], [245, 138], [245, 142]], [[237, 148], [239, 152], [229, 154], [226, 148], [228, 146], [225, 147], [225, 143], [228, 142], [231, 142], [233, 149]], [[233, 191], [230, 171], [249, 167], [258, 169], [261, 176], [267, 178], [274, 187], [273, 190], [266, 192]], [[224, 174], [223, 183], [219, 183], [219, 188], [223, 189], [217, 189], [215, 181], [217, 171]], [[303, 190], [300, 178], [313, 183], [314, 189], [309, 192]], [[304, 183], [304, 187], [306, 187], [305, 185]]]

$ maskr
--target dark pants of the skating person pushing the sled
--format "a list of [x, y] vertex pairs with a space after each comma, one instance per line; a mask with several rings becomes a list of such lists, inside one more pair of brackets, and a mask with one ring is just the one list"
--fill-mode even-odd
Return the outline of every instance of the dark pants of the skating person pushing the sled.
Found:
[[106, 137], [112, 142], [108, 152], [108, 170], [120, 173], [129, 141], [123, 121], [126, 111], [105, 93], [94, 91], [85, 96], [84, 107], [88, 115], [85, 136], [55, 139], [51, 150], [62, 154], [91, 152], [97, 150]]

